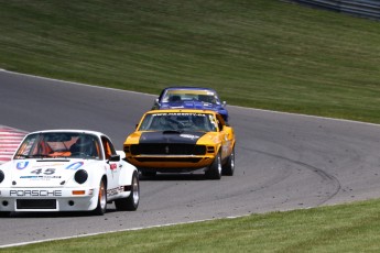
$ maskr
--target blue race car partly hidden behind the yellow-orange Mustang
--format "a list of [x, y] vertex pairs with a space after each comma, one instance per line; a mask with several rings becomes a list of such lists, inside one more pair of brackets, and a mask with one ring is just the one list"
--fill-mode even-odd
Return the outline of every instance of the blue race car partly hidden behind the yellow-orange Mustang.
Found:
[[217, 92], [200, 87], [167, 87], [155, 99], [152, 107], [158, 109], [202, 109], [217, 111], [228, 122], [226, 101], [220, 102]]

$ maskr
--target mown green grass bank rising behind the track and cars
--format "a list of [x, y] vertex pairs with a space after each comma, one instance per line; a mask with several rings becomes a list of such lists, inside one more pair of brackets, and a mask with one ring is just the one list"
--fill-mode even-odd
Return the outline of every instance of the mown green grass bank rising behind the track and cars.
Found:
[[278, 0], [0, 0], [0, 67], [380, 123], [380, 22]]

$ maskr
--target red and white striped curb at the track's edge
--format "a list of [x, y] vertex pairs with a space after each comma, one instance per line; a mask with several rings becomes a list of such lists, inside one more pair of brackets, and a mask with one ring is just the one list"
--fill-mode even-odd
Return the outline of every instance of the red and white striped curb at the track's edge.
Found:
[[12, 158], [25, 134], [26, 132], [24, 131], [0, 125], [0, 164]]

